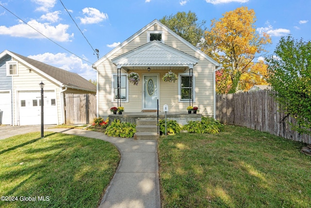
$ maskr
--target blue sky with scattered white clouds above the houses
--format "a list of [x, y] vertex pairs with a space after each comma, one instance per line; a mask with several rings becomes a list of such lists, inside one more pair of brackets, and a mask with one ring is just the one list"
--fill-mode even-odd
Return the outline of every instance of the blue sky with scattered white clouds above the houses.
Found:
[[241, 6], [254, 9], [258, 33], [272, 38], [273, 44], [266, 47], [270, 53], [281, 36], [311, 40], [311, 0], [0, 0], [0, 4], [63, 47], [0, 6], [0, 52], [9, 50], [86, 79], [96, 79], [93, 49], [103, 57], [154, 19], [182, 11], [196, 13], [209, 28], [210, 20], [225, 12]]

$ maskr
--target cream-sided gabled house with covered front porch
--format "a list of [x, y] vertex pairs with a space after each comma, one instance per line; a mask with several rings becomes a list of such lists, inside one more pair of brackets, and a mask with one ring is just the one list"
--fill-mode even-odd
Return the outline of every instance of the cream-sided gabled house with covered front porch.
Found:
[[[167, 104], [169, 112], [187, 113], [193, 102], [199, 113], [213, 116], [218, 66], [155, 19], [94, 63], [98, 115], [107, 116], [118, 105], [124, 112], [155, 111], [158, 99], [160, 111]], [[170, 70], [178, 76], [176, 82], [162, 80]], [[138, 73], [138, 85], [129, 83], [131, 72]]]

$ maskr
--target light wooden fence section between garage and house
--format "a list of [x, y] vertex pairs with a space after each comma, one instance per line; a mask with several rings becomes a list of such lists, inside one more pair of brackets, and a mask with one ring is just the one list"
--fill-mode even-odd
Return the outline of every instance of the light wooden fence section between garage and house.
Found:
[[65, 94], [67, 124], [89, 124], [96, 117], [96, 94]]

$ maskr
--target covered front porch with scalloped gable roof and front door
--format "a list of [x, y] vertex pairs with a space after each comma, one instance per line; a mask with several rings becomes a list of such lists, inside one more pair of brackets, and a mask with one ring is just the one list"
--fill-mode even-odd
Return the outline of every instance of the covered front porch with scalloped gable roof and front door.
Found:
[[[158, 100], [160, 106], [167, 104], [176, 113], [193, 106], [196, 57], [154, 40], [111, 61], [117, 72], [112, 90], [117, 107], [133, 112], [156, 110]], [[169, 72], [176, 82], [164, 80]], [[137, 82], [132, 81], [132, 74]]]

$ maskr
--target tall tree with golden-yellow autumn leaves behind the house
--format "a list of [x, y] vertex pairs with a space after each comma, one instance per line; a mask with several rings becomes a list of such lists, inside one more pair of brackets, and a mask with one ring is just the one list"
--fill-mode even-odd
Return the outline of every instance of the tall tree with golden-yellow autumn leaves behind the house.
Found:
[[271, 38], [268, 34], [260, 36], [256, 32], [255, 21], [254, 10], [247, 7], [226, 12], [218, 21], [211, 20], [211, 28], [205, 32], [202, 51], [222, 64], [221, 73], [216, 74], [216, 81], [222, 82], [216, 83], [217, 93], [246, 90], [246, 82], [255, 83], [252, 78], [261, 77], [261, 81], [264, 81], [266, 75], [259, 73], [266, 71], [266, 66], [257, 65], [253, 60], [265, 52], [264, 45], [271, 43]]

